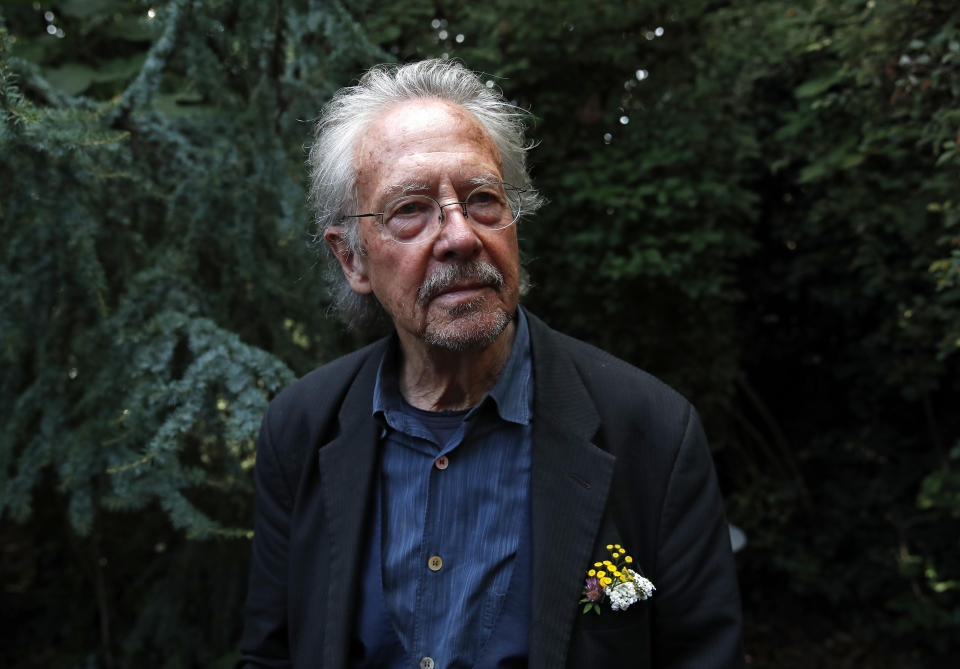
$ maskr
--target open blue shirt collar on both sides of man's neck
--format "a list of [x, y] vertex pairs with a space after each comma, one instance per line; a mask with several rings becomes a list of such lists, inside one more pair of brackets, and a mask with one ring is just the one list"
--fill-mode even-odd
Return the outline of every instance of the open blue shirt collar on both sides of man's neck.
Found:
[[[526, 425], [533, 416], [533, 360], [530, 355], [530, 330], [523, 309], [517, 309], [515, 320], [517, 332], [507, 364], [486, 397], [467, 413], [467, 419], [490, 401], [502, 420]], [[398, 347], [397, 337], [394, 336], [380, 361], [377, 382], [373, 388], [374, 416], [385, 416], [400, 410], [402, 399], [397, 376]]]

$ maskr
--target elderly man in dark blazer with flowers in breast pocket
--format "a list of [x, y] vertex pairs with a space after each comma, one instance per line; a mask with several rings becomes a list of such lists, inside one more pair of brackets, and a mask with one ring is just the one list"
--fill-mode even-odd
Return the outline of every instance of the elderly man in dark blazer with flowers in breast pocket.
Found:
[[311, 199], [354, 325], [270, 405], [250, 667], [731, 667], [740, 609], [696, 412], [518, 307], [522, 114], [449, 61], [324, 110]]

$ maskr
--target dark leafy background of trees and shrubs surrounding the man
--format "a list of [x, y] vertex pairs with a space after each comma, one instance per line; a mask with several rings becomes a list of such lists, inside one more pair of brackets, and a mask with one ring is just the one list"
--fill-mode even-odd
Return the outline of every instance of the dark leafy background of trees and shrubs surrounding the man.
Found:
[[543, 4], [0, 4], [0, 665], [235, 657], [260, 416], [362, 341], [310, 119], [442, 55], [534, 115], [527, 304], [703, 414], [750, 664], [949, 665], [954, 3]]

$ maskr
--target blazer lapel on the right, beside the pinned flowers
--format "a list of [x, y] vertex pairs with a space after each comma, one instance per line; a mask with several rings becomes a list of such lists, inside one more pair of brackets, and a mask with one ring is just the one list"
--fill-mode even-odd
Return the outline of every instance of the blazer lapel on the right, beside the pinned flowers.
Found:
[[603, 520], [614, 456], [592, 443], [599, 415], [558, 335], [527, 314], [534, 362], [530, 667], [562, 667]]

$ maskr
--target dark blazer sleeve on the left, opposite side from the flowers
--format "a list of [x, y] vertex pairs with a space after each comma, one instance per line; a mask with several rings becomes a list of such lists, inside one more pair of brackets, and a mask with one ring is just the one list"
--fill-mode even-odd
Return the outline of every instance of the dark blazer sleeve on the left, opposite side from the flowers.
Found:
[[293, 491], [270, 435], [270, 413], [260, 427], [250, 583], [237, 669], [290, 667], [287, 570]]

